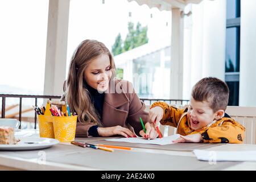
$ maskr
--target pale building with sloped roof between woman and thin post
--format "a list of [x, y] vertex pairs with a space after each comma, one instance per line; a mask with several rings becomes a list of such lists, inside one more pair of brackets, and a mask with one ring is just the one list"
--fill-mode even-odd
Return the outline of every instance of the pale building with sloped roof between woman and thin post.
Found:
[[133, 83], [140, 98], [170, 98], [170, 42], [147, 43], [114, 56], [124, 80]]

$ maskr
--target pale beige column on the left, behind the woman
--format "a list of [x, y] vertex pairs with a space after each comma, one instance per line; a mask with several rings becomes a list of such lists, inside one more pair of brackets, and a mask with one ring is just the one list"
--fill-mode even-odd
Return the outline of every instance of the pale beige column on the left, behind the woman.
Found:
[[44, 95], [60, 96], [66, 73], [69, 0], [49, 0]]

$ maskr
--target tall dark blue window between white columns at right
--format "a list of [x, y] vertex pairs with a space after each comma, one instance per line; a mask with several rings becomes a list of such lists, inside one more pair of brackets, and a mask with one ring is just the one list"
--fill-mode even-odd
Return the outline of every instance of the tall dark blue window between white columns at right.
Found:
[[226, 0], [225, 81], [229, 86], [230, 106], [239, 105], [240, 1]]

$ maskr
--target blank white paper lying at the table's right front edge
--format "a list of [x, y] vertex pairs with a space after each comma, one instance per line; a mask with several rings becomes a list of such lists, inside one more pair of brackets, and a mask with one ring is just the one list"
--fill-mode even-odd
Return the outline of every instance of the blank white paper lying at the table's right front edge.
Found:
[[256, 161], [256, 151], [209, 151], [193, 150], [198, 160], [217, 161]]

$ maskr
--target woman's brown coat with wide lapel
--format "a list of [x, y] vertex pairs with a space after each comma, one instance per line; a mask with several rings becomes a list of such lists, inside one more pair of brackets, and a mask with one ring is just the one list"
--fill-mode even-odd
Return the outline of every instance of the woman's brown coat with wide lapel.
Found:
[[[112, 84], [111, 84], [112, 83]], [[115, 86], [115, 92], [113, 92]], [[126, 128], [133, 127], [135, 133], [139, 135], [142, 125], [139, 117], [143, 122], [149, 121], [148, 113], [144, 111], [145, 104], [139, 100], [139, 97], [129, 81], [112, 80], [109, 84], [108, 93], [105, 93], [104, 104], [102, 109], [103, 127], [122, 126]], [[89, 137], [88, 130], [93, 123], [77, 122], [76, 137]]]

